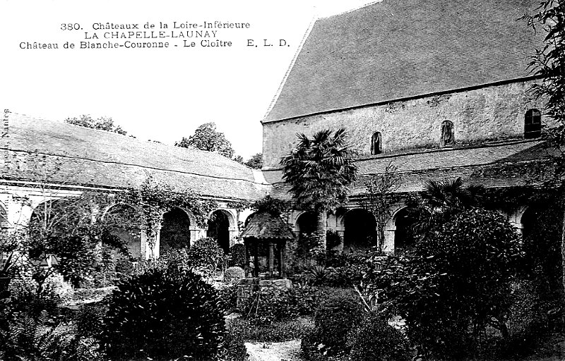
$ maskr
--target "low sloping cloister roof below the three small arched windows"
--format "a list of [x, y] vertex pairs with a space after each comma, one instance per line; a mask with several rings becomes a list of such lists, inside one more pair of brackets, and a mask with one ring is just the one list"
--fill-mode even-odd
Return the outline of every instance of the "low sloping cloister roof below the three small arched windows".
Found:
[[[356, 162], [359, 181], [351, 187], [350, 195], [364, 193], [364, 180], [384, 173], [388, 164], [396, 166], [402, 178], [397, 192], [417, 192], [426, 181], [458, 177], [487, 188], [538, 185], [551, 176], [552, 166], [547, 164], [551, 152], [553, 150], [544, 142], [520, 141], [359, 159]], [[280, 171], [267, 172], [266, 178], [273, 183], [280, 182]], [[290, 199], [289, 189], [279, 183], [271, 196]]]

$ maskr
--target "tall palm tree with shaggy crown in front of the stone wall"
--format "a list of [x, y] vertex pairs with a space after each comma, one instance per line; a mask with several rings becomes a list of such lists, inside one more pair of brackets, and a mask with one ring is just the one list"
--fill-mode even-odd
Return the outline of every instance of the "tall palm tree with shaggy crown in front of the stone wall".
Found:
[[345, 142], [345, 128], [297, 136], [296, 148], [280, 161], [283, 179], [299, 206], [316, 212], [316, 238], [325, 247], [327, 212], [347, 200], [347, 187], [357, 177], [354, 152]]

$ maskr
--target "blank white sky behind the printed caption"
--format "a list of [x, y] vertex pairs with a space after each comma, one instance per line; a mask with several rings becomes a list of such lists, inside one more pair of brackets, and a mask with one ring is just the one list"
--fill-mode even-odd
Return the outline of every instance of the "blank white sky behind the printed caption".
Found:
[[[214, 121], [247, 159], [261, 152], [260, 121], [312, 20], [370, 2], [0, 0], [0, 106], [60, 121], [109, 116], [141, 140], [171, 145]], [[169, 38], [169, 49], [62, 49], [66, 42], [76, 47], [81, 41], [107, 42], [87, 39], [94, 23], [190, 30], [172, 29], [174, 21], [249, 23], [249, 28], [211, 29], [216, 36], [206, 39], [231, 41], [232, 47], [201, 47], [200, 38], [187, 39], [198, 42], [196, 47], [184, 47], [184, 39]], [[81, 29], [61, 30], [63, 23]], [[160, 29], [160, 23], [169, 28]], [[102, 37], [107, 31], [116, 30], [96, 33]], [[248, 47], [249, 39], [258, 47]], [[273, 47], [263, 47], [263, 39]], [[278, 46], [280, 39], [286, 46]], [[20, 49], [22, 42], [57, 43], [59, 49]]]

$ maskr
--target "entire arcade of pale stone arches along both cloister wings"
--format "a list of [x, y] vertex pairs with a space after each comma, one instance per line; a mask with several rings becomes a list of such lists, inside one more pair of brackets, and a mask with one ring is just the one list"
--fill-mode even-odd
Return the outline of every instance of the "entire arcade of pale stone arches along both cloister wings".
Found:
[[[21, 186], [8, 186], [0, 193], [0, 226], [1, 228], [18, 228], [28, 226], [33, 214], [39, 212], [44, 202], [68, 200], [81, 194], [81, 189], [58, 189], [46, 193], [37, 188], [26, 188]], [[225, 205], [225, 204], [224, 204]], [[154, 242], [155, 247], [150, 250], [150, 242], [143, 232], [143, 225], [136, 222], [116, 224], [115, 232], [119, 237], [126, 240], [129, 252], [133, 257], [158, 257], [160, 253], [168, 250], [190, 246], [201, 237], [213, 237], [218, 240], [220, 247], [225, 251], [237, 243], [237, 236], [242, 231], [246, 219], [252, 214], [250, 209], [244, 211], [230, 208], [215, 209], [210, 212], [210, 221], [200, 228], [196, 224], [193, 214], [185, 209], [169, 209], [162, 217], [160, 230]], [[113, 204], [106, 209], [100, 209], [96, 204], [90, 209], [90, 217], [93, 221], [98, 219], [121, 217], [132, 214], [135, 207], [131, 204]], [[535, 207], [517, 207], [513, 211], [499, 211], [516, 227], [526, 235], [528, 230], [536, 227], [537, 218], [542, 209]], [[392, 215], [384, 226], [384, 248], [385, 252], [398, 252], [414, 243], [412, 225], [416, 221], [414, 214], [408, 211], [405, 204], [396, 204]], [[283, 216], [295, 236], [299, 238], [304, 233], [316, 231], [317, 217], [314, 212], [291, 211]], [[338, 247], [345, 252], [352, 250], [364, 250], [375, 245], [377, 239], [377, 227], [374, 216], [362, 207], [352, 204], [349, 208], [340, 208], [336, 212], [328, 214], [328, 230], [333, 230], [343, 240]]]

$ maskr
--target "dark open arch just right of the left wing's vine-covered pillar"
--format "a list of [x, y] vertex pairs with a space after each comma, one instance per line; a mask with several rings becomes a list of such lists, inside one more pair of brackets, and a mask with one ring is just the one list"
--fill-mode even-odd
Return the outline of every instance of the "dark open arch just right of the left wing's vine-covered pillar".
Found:
[[174, 207], [165, 212], [162, 216], [159, 233], [160, 254], [165, 254], [171, 250], [189, 248], [191, 231], [195, 223], [194, 215], [185, 209]]

